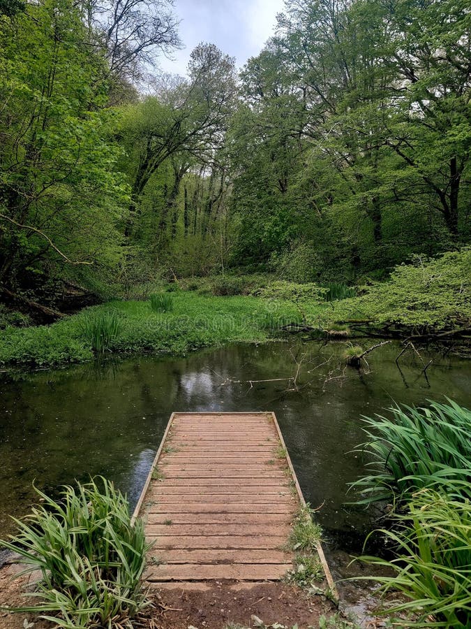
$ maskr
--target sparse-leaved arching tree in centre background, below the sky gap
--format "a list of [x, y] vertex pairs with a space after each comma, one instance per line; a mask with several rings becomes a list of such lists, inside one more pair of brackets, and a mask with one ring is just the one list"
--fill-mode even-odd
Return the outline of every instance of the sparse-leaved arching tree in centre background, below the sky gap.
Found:
[[[136, 164], [129, 171], [133, 215], [144, 188], [166, 160], [178, 154], [188, 163], [193, 159], [209, 166], [223, 143], [234, 105], [234, 59], [214, 45], [200, 44], [191, 55], [189, 74], [188, 82], [177, 83], [170, 92], [123, 110], [119, 133]], [[188, 166], [176, 181], [186, 170]]]

